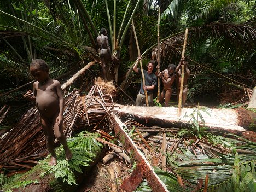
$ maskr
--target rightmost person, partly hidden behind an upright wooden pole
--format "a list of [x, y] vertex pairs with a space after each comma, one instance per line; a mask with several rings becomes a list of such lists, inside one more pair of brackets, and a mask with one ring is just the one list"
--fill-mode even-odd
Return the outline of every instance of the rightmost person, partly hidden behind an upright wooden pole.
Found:
[[188, 62], [185, 61], [184, 57], [181, 57], [181, 61], [179, 62], [179, 65], [176, 68], [176, 85], [177, 85], [177, 101], [179, 102], [179, 91], [181, 88], [181, 67], [184, 65], [184, 82], [183, 82], [183, 94], [182, 94], [182, 107], [185, 106], [185, 102], [187, 100], [187, 94], [188, 94], [188, 78], [190, 75], [190, 71], [187, 68]]

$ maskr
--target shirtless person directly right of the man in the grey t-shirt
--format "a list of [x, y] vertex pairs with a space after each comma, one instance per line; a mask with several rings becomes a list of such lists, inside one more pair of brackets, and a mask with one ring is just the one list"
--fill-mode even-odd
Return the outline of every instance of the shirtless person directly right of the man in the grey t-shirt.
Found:
[[[159, 65], [156, 66], [156, 68], [159, 68]], [[176, 65], [170, 64], [167, 69], [156, 74], [156, 76], [162, 79], [162, 83], [164, 84], [164, 89], [162, 90], [159, 96], [159, 103], [162, 103], [165, 98], [165, 107], [169, 107], [169, 101], [172, 95], [172, 84], [175, 79], [175, 69]]]

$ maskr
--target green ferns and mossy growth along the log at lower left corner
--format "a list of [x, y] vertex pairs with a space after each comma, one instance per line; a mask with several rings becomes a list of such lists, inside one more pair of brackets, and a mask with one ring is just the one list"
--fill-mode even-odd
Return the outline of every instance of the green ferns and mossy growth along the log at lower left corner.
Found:
[[[9, 178], [0, 177], [2, 181], [2, 190], [10, 192], [14, 188], [25, 188], [31, 183], [38, 183], [40, 178], [46, 175], [54, 174], [54, 177], [61, 180], [68, 185], [76, 185], [75, 173], [82, 173], [83, 167], [88, 167], [90, 162], [96, 158], [97, 154], [102, 150], [102, 144], [97, 142], [95, 138], [98, 133], [88, 133], [86, 131], [80, 132], [78, 136], [67, 139], [67, 143], [72, 152], [72, 158], [66, 161], [63, 146], [56, 148], [57, 165], [50, 166], [50, 155], [42, 161], [39, 161], [37, 170], [39, 170], [40, 177], [38, 179], [30, 179], [31, 171], [24, 174], [16, 174]], [[36, 167], [35, 167], [36, 168]]]

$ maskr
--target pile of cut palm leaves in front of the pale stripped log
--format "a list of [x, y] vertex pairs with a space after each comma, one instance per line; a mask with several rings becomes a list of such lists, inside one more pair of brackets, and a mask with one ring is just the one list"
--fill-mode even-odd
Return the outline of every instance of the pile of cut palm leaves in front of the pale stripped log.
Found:
[[[146, 127], [131, 119], [124, 124], [169, 191], [255, 191], [255, 142], [211, 132], [203, 133], [200, 139], [189, 129]], [[166, 152], [162, 148], [163, 133]], [[166, 165], [162, 164], [163, 156]], [[136, 191], [151, 189], [144, 181]]]

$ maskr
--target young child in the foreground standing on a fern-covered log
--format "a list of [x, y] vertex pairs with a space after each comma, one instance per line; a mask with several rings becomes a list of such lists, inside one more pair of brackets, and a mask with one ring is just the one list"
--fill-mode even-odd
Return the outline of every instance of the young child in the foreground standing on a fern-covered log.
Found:
[[62, 130], [64, 98], [61, 85], [60, 82], [49, 77], [49, 67], [42, 59], [36, 59], [31, 62], [30, 72], [37, 81], [33, 84], [33, 92], [29, 90], [24, 97], [31, 101], [36, 101], [42, 128], [45, 133], [46, 146], [51, 154], [49, 165], [56, 165], [57, 156], [54, 149], [54, 132], [55, 137], [63, 145], [66, 160], [72, 158], [71, 150], [68, 148], [67, 140]]

